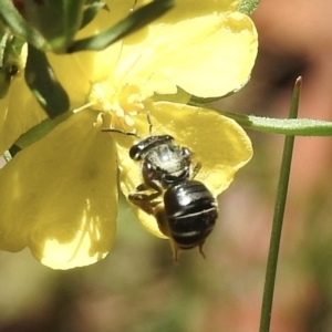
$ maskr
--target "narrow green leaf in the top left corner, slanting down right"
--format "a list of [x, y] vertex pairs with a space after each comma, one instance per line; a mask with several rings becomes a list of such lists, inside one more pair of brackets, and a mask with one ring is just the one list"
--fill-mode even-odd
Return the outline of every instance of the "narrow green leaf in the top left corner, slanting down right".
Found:
[[39, 31], [30, 27], [14, 8], [11, 0], [0, 0], [0, 19], [17, 35], [40, 50], [50, 50]]

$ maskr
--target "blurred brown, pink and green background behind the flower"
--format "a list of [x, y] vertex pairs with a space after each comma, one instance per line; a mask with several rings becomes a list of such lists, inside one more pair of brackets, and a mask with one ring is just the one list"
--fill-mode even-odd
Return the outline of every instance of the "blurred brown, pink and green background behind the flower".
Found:
[[[287, 117], [303, 76], [300, 116], [332, 121], [332, 3], [262, 0], [252, 80], [220, 110]], [[147, 234], [126, 206], [103, 261], [70, 271], [28, 250], [0, 252], [0, 332], [256, 332], [283, 136], [248, 132], [255, 157], [220, 196], [204, 260]], [[332, 138], [297, 137], [272, 332], [332, 331]]]

